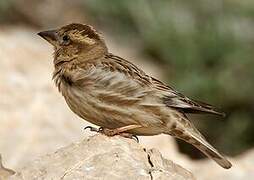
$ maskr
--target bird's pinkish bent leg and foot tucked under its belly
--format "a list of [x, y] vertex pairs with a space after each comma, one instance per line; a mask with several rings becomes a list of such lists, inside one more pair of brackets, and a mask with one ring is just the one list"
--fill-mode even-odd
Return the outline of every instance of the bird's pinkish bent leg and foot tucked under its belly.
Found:
[[123, 137], [127, 137], [127, 138], [135, 138], [135, 140], [138, 142], [138, 138], [137, 136], [127, 133], [126, 131], [132, 130], [132, 129], [136, 129], [136, 128], [140, 128], [142, 127], [141, 125], [128, 125], [128, 126], [123, 126], [120, 128], [116, 128], [116, 129], [108, 129], [108, 128], [100, 128], [99, 132], [101, 132], [102, 134], [105, 134], [106, 136], [115, 136], [115, 135], [120, 135]]

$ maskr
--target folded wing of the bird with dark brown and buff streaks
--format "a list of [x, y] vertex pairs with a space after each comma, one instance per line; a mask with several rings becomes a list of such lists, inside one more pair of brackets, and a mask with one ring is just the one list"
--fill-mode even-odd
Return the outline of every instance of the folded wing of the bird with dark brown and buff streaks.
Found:
[[[224, 116], [224, 113], [219, 112], [215, 107], [200, 101], [189, 99], [161, 81], [148, 76], [137, 66], [121, 57], [108, 54], [105, 59], [91, 61], [91, 63], [106, 69], [104, 72], [114, 72], [104, 75], [103, 73], [97, 73], [100, 79], [100, 81], [98, 81], [98, 78], [96, 80], [99, 82], [98, 84], [103, 84], [102, 81], [106, 82], [106, 79], [110, 78], [112, 80], [110, 82], [114, 82], [110, 85], [108, 84], [108, 89], [104, 91], [108, 94], [107, 96], [109, 98], [112, 95], [117, 98], [115, 95], [118, 94], [119, 97], [125, 96], [128, 97], [128, 99], [133, 100], [132, 102], [135, 100], [138, 102], [138, 100], [141, 100], [142, 98], [144, 99], [144, 96], [148, 93], [154, 93], [153, 91], [157, 91], [157, 93], [159, 92], [159, 94], [161, 94], [164, 105], [178, 109], [184, 113], [211, 113]], [[89, 63], [87, 64], [89, 65]], [[118, 72], [117, 75], [116, 72]], [[121, 74], [130, 78], [125, 79], [121, 76]], [[121, 100], [121, 98], [119, 98], [119, 100]], [[161, 104], [149, 101], [146, 105], [160, 106]]]

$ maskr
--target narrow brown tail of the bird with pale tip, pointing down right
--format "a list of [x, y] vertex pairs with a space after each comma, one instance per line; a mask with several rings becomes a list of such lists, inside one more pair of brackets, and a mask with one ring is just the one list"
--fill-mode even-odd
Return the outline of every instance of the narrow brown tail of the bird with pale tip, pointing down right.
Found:
[[176, 138], [182, 139], [201, 152], [203, 152], [207, 157], [213, 159], [217, 164], [225, 169], [229, 169], [232, 164], [223, 156], [221, 155], [212, 145], [210, 145], [205, 138], [198, 132], [198, 130], [193, 129], [194, 131], [190, 130], [180, 130], [177, 129], [176, 131], [171, 131], [170, 135], [173, 135]]

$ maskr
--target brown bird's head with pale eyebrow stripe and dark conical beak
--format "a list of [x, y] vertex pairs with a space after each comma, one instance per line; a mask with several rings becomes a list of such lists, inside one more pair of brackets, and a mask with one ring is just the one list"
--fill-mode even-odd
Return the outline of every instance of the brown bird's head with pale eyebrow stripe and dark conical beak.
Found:
[[73, 59], [96, 59], [107, 53], [103, 38], [89, 25], [73, 23], [59, 29], [39, 32], [38, 35], [54, 46], [55, 65]]

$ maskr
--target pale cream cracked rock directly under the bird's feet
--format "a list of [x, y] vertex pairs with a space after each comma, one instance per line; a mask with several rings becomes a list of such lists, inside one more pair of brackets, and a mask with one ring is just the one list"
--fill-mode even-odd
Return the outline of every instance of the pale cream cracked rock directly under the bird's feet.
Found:
[[43, 156], [11, 177], [25, 179], [171, 179], [193, 175], [156, 149], [146, 150], [134, 140], [95, 135]]

